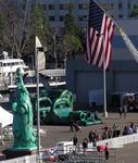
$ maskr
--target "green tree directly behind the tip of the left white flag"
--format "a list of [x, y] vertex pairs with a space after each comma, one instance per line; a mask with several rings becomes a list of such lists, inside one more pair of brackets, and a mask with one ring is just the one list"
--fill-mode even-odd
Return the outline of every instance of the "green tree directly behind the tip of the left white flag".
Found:
[[48, 24], [48, 20], [46, 17], [46, 11], [43, 5], [35, 4], [32, 8], [30, 13], [30, 29], [32, 29], [32, 37], [30, 41], [32, 46], [35, 45], [35, 36], [37, 35], [42, 43], [43, 47], [47, 47], [47, 54], [53, 55], [54, 51], [54, 29], [51, 28]]

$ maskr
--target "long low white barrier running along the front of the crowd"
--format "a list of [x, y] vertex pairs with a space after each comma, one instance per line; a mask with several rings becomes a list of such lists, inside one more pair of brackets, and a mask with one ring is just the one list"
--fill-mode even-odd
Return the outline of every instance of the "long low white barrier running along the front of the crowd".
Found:
[[[66, 142], [66, 141], [62, 141], [63, 146], [64, 146], [64, 142]], [[134, 142], [138, 142], [138, 134], [100, 140], [100, 141], [97, 141], [97, 147], [105, 146], [108, 143], [109, 149], [116, 149], [116, 148], [122, 148], [124, 145], [134, 143]], [[72, 145], [72, 147], [73, 147], [73, 145]], [[70, 146], [70, 151], [71, 151], [72, 147]], [[81, 148], [81, 145], [79, 147]], [[62, 150], [63, 149], [65, 151], [62, 151], [62, 152], [66, 153], [66, 149], [68, 149], [68, 148], [62, 148]], [[90, 149], [91, 150], [96, 149], [92, 146], [92, 142], [88, 143], [88, 151]], [[46, 151], [49, 152], [50, 155], [52, 155], [52, 153], [55, 154], [57, 150], [58, 150], [57, 147], [52, 147], [52, 148], [47, 149]], [[48, 155], [46, 155], [46, 151], [41, 152], [41, 154], [40, 154], [41, 159], [42, 158], [45, 159], [46, 156], [48, 156]], [[37, 160], [36, 154], [16, 158], [16, 159], [12, 159], [12, 160], [0, 161], [0, 163], [37, 163], [37, 162], [38, 162], [38, 160]]]

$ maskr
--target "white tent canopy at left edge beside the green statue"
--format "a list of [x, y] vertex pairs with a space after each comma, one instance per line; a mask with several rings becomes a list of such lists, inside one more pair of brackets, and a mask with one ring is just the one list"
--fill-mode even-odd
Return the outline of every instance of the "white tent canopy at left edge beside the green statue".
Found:
[[5, 127], [13, 123], [13, 114], [5, 111], [2, 106], [0, 106], [0, 124], [1, 127]]

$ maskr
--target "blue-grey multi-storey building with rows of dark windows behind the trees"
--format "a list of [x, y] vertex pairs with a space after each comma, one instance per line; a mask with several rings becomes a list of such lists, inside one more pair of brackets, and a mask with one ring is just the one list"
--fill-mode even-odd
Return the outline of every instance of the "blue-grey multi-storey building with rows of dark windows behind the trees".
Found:
[[[138, 5], [138, 0], [97, 0], [114, 18], [130, 17], [134, 5]], [[51, 26], [62, 27], [64, 17], [73, 3], [73, 12], [76, 22], [81, 27], [87, 27], [89, 0], [37, 0], [46, 9], [46, 16]]]

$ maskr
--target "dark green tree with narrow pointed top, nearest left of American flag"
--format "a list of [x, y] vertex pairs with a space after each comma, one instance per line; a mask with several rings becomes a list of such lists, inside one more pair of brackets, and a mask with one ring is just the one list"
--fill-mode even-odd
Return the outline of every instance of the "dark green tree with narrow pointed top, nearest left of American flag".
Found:
[[68, 13], [64, 21], [65, 33], [62, 39], [62, 52], [64, 53], [64, 61], [67, 55], [74, 57], [76, 53], [83, 51], [83, 29], [76, 25], [76, 20], [73, 14], [73, 4], [70, 4]]

